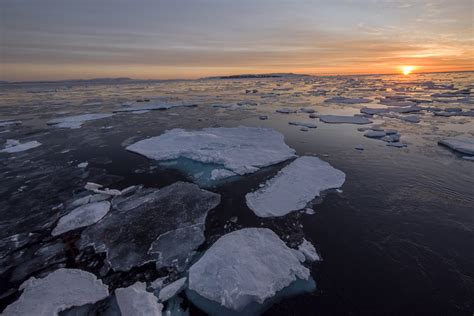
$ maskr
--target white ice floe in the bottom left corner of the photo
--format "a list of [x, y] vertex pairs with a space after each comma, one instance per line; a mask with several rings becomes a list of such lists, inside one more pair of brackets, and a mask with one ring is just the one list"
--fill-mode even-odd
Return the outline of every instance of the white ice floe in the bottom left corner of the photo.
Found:
[[77, 269], [58, 269], [42, 279], [31, 277], [20, 290], [20, 298], [7, 306], [2, 315], [58, 315], [70, 307], [95, 303], [109, 295], [107, 286], [95, 275]]

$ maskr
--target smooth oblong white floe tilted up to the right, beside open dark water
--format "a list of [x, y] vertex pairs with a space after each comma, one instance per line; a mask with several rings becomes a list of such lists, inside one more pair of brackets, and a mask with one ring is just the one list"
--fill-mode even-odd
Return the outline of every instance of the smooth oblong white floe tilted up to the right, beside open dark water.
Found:
[[245, 198], [247, 206], [260, 217], [283, 216], [305, 208], [322, 191], [341, 187], [345, 179], [344, 172], [329, 163], [303, 156]]

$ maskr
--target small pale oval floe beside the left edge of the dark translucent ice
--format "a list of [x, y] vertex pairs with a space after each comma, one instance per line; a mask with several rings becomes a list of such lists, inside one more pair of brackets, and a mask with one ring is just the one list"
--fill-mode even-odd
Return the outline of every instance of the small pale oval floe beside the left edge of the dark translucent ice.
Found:
[[102, 201], [85, 204], [61, 217], [51, 235], [58, 236], [76, 228], [85, 227], [100, 221], [110, 210], [110, 202]]

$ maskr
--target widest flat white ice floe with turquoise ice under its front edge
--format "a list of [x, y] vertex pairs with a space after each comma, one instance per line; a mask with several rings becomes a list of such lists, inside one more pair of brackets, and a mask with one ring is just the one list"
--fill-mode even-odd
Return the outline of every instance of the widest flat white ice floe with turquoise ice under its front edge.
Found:
[[205, 128], [199, 131], [172, 129], [126, 148], [155, 160], [180, 157], [222, 165], [239, 175], [252, 173], [294, 157], [280, 133], [268, 128]]

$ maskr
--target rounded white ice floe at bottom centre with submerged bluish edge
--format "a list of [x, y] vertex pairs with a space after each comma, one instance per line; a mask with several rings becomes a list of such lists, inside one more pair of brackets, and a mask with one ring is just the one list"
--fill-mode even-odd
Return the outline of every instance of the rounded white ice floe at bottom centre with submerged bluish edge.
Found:
[[304, 259], [270, 229], [237, 230], [220, 237], [191, 266], [186, 294], [210, 315], [257, 314], [294, 284], [298, 288], [284, 294], [314, 290]]

